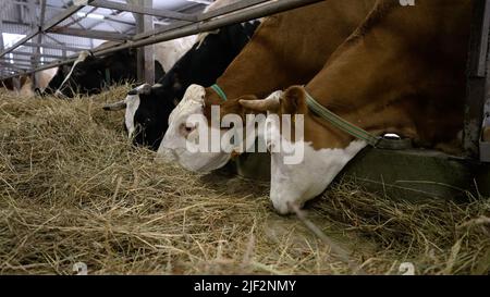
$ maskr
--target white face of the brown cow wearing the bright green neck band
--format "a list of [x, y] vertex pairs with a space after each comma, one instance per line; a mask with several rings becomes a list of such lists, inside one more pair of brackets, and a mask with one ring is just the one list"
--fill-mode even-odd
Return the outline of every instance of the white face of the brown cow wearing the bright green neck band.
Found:
[[194, 137], [197, 129], [184, 135], [182, 126], [186, 125], [191, 115], [203, 114], [205, 95], [206, 90], [201, 86], [192, 85], [187, 88], [184, 98], [169, 116], [169, 128], [157, 151], [156, 161], [176, 161], [183, 168], [194, 172], [210, 172], [228, 163], [231, 158], [230, 153], [191, 152], [187, 150], [187, 137]]

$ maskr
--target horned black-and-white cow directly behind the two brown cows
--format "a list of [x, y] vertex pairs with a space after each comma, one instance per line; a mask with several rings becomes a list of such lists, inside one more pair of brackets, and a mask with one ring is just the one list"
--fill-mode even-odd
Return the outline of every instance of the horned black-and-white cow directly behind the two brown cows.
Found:
[[205, 35], [155, 86], [143, 85], [105, 110], [126, 109], [125, 127], [134, 145], [157, 150], [172, 110], [192, 84], [210, 86], [254, 35], [259, 21], [223, 27]]

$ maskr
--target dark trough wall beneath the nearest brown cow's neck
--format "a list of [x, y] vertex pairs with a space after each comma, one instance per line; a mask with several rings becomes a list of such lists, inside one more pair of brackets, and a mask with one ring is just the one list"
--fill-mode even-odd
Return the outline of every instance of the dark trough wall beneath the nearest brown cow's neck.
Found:
[[[235, 160], [236, 174], [270, 181], [270, 154], [246, 153]], [[490, 196], [490, 165], [431, 150], [366, 148], [339, 174], [392, 199], [463, 200], [467, 191]]]

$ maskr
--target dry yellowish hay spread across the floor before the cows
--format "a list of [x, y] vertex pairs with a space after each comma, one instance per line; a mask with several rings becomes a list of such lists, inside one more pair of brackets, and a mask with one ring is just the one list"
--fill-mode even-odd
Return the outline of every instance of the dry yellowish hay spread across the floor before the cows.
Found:
[[[0, 94], [0, 272], [73, 274], [348, 274], [352, 265], [268, 185], [156, 165], [135, 149], [123, 113], [101, 107], [121, 86], [64, 101]], [[308, 219], [366, 273], [486, 274], [490, 201], [392, 202], [341, 184]]]

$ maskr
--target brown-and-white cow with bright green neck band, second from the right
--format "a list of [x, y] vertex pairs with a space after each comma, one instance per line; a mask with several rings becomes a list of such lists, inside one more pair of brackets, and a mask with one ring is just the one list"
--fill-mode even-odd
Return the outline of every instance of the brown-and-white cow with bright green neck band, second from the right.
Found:
[[[375, 2], [326, 1], [265, 18], [247, 46], [218, 78], [218, 85], [228, 98], [236, 99], [244, 95], [264, 98], [278, 89], [306, 84], [366, 18]], [[188, 115], [203, 113], [203, 100], [207, 107], [221, 102], [210, 88], [191, 86], [169, 119], [168, 139], [179, 138], [180, 126]], [[211, 171], [228, 162], [228, 157], [217, 154], [222, 159], [217, 159], [215, 164], [204, 160], [200, 165], [201, 156], [180, 149], [182, 143], [167, 141], [167, 145], [170, 147], [160, 146], [158, 154], [163, 157], [168, 154], [167, 149], [174, 148], [180, 151], [182, 165], [189, 170]], [[215, 154], [209, 153], [211, 156]]]

